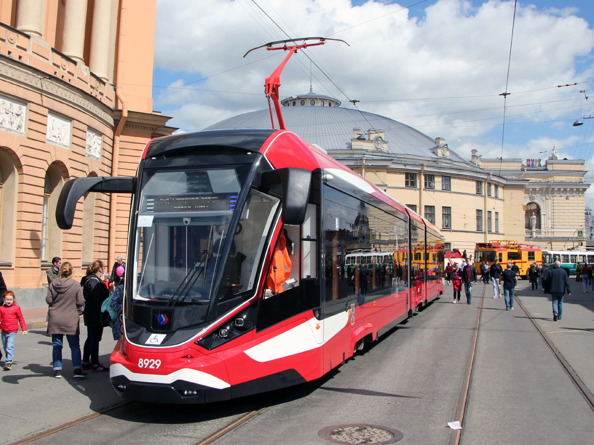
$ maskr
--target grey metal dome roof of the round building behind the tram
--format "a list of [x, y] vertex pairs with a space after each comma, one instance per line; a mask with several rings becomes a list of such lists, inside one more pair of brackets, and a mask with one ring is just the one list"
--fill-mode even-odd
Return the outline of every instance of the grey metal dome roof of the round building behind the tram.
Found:
[[[319, 94], [313, 94], [316, 98], [327, 98]], [[298, 98], [305, 98], [311, 94], [303, 94]], [[312, 99], [313, 99], [312, 96]], [[335, 101], [334, 98], [329, 98]], [[283, 103], [296, 100], [293, 97], [283, 99]], [[356, 138], [357, 131], [363, 129], [362, 134], [381, 132], [386, 142], [387, 152], [399, 155], [412, 155], [436, 159], [439, 158], [433, 148], [435, 140], [421, 133], [414, 128], [390, 119], [386, 116], [374, 113], [334, 106], [283, 106], [283, 119], [287, 130], [298, 134], [310, 144], [317, 144], [328, 151], [348, 150], [351, 147], [353, 136]], [[274, 128], [279, 128], [276, 113], [273, 108]], [[268, 109], [244, 113], [242, 115], [229, 117], [229, 119], [217, 122], [205, 130], [233, 129], [233, 128], [271, 128], [270, 111]], [[450, 150], [450, 160], [460, 161], [469, 166], [470, 162], [456, 152]], [[473, 166], [474, 167], [474, 166]]]

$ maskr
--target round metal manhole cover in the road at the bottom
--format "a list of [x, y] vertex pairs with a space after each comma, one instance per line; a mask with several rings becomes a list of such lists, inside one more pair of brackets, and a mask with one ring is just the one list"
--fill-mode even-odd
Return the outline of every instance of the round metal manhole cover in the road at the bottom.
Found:
[[318, 431], [318, 436], [332, 443], [353, 445], [396, 443], [405, 437], [401, 431], [394, 428], [367, 424], [332, 425]]

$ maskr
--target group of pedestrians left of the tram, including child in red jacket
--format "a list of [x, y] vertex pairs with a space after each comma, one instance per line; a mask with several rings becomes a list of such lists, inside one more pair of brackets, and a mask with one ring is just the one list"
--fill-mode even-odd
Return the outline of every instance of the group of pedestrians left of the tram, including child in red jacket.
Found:
[[[99, 362], [99, 343], [103, 329], [112, 328], [113, 339], [122, 334], [121, 311], [124, 306], [125, 262], [121, 256], [113, 264], [111, 274], [100, 260], [87, 267], [80, 282], [72, 278], [72, 265], [52, 258], [52, 266], [46, 271], [48, 278], [47, 335], [52, 338], [53, 376], [62, 377], [62, 349], [64, 336], [70, 348], [75, 379], [84, 379], [92, 373], [109, 371]], [[20, 326], [27, 335], [27, 326], [13, 291], [8, 291], [0, 273], [0, 295], [4, 298], [0, 306], [0, 329], [2, 346], [6, 354], [4, 370], [10, 371], [14, 357], [15, 338]], [[80, 316], [87, 327], [87, 338], [81, 354]], [[0, 359], [2, 352], [0, 352]]]

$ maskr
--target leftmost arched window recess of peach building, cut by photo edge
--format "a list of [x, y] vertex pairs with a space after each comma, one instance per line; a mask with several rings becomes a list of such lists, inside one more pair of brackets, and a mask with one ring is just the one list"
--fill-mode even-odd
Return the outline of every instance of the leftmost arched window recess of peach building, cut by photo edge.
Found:
[[12, 156], [0, 149], [0, 264], [12, 265], [16, 239], [18, 172]]

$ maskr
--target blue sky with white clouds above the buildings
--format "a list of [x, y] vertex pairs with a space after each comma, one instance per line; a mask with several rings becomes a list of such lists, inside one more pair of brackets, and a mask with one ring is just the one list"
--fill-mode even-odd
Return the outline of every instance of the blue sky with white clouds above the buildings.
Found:
[[[153, 109], [198, 131], [267, 107], [264, 78], [282, 51], [242, 56], [286, 39], [283, 31], [349, 43], [307, 50], [316, 93], [349, 107], [359, 100], [467, 158], [475, 148], [485, 158], [546, 159], [555, 146], [586, 160], [594, 184], [594, 119], [582, 118], [594, 116], [592, 0], [517, 2], [515, 21], [514, 1], [501, 0], [157, 0]], [[298, 53], [280, 94], [307, 93], [309, 81]], [[578, 118], [584, 125], [574, 127]], [[594, 187], [586, 204], [594, 208]]]

